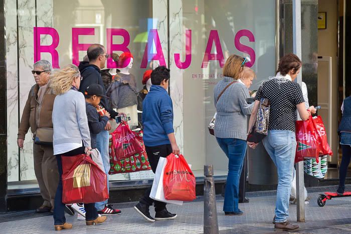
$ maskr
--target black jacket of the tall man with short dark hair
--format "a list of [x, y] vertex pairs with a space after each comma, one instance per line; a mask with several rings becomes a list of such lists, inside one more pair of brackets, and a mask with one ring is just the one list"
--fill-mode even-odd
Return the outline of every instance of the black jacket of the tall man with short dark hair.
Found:
[[[80, 62], [79, 64], [80, 75], [83, 76], [83, 80], [80, 82], [79, 91], [84, 94], [85, 89], [91, 84], [100, 84], [104, 89], [104, 95], [106, 90], [104, 83], [101, 78], [100, 68], [93, 64], [87, 64], [87, 62]], [[100, 104], [110, 113], [111, 119], [114, 119], [118, 113], [112, 110], [105, 97], [101, 98]]]

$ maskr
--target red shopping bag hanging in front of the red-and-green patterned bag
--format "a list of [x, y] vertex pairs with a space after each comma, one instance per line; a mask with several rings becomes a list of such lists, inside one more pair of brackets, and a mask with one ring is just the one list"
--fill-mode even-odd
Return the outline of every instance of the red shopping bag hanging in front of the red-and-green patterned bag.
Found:
[[143, 151], [140, 143], [141, 135], [129, 129], [127, 122], [121, 122], [116, 130], [111, 134], [112, 144], [118, 159], [124, 159]]

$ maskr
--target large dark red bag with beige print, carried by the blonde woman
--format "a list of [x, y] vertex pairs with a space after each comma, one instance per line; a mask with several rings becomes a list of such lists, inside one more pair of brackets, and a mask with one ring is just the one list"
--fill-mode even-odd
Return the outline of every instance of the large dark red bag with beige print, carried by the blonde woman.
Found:
[[108, 199], [107, 176], [85, 154], [61, 156], [62, 203], [94, 203]]

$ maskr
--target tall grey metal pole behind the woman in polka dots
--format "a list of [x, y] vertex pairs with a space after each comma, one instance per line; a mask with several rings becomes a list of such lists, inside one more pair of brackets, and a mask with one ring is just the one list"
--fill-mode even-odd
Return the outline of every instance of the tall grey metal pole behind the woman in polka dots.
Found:
[[[292, 1], [292, 34], [293, 34], [293, 50], [301, 60], [301, 0]], [[301, 85], [302, 72], [297, 76], [297, 83]], [[301, 120], [297, 113], [298, 120]], [[304, 178], [303, 178], [303, 161], [295, 164], [296, 167], [296, 214], [297, 221], [305, 221], [305, 195], [304, 195]]]

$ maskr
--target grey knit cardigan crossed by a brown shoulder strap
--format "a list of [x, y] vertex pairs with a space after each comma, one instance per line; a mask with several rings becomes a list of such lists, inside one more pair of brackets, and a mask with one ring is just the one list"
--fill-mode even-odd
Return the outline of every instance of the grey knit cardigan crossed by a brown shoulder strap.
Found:
[[236, 138], [246, 141], [246, 116], [251, 114], [253, 104], [249, 105], [246, 98], [250, 97], [248, 88], [234, 83], [224, 91], [217, 102], [218, 95], [230, 83], [231, 77], [224, 77], [214, 89], [214, 103], [217, 109], [215, 136], [218, 138]]

